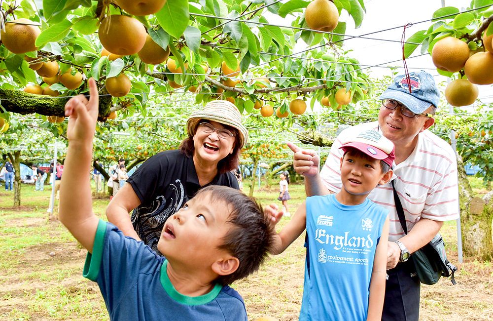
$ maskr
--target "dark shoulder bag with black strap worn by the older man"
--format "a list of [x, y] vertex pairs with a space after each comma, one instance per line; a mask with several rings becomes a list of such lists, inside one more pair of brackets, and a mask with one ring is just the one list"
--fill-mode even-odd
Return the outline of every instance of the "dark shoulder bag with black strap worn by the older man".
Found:
[[[394, 192], [394, 202], [399, 221], [401, 223], [404, 233], [407, 234], [406, 219], [404, 217], [404, 210], [399, 200], [399, 196], [394, 188], [394, 182], [392, 181], [392, 189]], [[445, 253], [445, 243], [443, 242], [440, 233], [422, 248], [411, 254], [410, 260], [413, 260], [414, 267], [416, 268], [416, 274], [420, 278], [423, 284], [435, 284], [440, 277], [451, 277], [452, 284], [457, 284], [454, 278], [454, 273], [457, 268], [447, 260], [447, 253]]]

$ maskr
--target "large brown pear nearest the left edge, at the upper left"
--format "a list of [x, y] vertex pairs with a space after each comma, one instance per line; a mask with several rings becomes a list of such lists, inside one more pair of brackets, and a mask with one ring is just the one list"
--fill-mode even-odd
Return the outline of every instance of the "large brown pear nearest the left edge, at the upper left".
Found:
[[[27, 23], [28, 25], [19, 24]], [[1, 31], [1, 41], [5, 48], [13, 53], [26, 53], [37, 50], [35, 42], [41, 31], [29, 19], [21, 18], [5, 23], [5, 29]]]

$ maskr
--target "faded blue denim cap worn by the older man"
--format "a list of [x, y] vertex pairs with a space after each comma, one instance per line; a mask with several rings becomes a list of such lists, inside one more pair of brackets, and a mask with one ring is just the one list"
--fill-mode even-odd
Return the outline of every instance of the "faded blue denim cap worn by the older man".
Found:
[[[411, 92], [409, 92], [410, 87]], [[409, 81], [406, 75], [397, 75], [379, 99], [396, 100], [413, 113], [421, 114], [430, 107], [430, 104], [438, 107], [440, 93], [433, 76], [421, 70], [409, 73]]]

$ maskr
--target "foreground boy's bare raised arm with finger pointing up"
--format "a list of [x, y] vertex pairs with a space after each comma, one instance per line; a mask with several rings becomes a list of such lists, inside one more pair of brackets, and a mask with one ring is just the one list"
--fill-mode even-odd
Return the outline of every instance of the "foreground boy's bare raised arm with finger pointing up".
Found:
[[60, 221], [92, 253], [99, 218], [92, 211], [89, 173], [92, 164], [92, 140], [98, 118], [99, 95], [96, 81], [88, 80], [90, 99], [84, 95], [65, 104], [69, 117], [69, 147], [60, 183]]

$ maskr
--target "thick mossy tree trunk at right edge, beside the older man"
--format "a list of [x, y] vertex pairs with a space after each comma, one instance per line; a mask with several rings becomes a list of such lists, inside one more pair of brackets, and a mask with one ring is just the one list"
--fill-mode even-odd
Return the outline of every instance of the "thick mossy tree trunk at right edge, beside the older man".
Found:
[[491, 260], [493, 258], [493, 201], [491, 201], [493, 191], [483, 199], [474, 197], [460, 157], [458, 157], [458, 182], [462, 250], [467, 256]]

